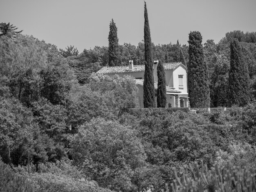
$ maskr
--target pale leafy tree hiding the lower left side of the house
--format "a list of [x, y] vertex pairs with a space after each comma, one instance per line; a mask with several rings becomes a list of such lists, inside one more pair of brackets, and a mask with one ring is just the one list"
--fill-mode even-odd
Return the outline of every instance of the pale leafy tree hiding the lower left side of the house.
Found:
[[72, 127], [93, 117], [117, 118], [127, 103], [135, 103], [138, 88], [130, 76], [93, 74], [89, 81], [88, 85], [74, 89], [68, 97], [68, 123]]

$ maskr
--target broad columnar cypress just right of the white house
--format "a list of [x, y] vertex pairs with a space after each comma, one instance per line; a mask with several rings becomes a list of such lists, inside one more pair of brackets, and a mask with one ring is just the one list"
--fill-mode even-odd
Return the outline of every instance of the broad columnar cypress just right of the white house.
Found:
[[189, 33], [189, 97], [191, 107], [209, 107], [209, 72], [204, 62], [202, 35], [199, 31]]

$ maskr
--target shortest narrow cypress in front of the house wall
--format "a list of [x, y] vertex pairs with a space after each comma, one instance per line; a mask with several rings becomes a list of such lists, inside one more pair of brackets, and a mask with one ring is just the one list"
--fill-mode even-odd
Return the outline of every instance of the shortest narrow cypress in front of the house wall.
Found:
[[164, 65], [159, 61], [157, 65], [157, 107], [165, 107], [166, 105], [166, 79]]

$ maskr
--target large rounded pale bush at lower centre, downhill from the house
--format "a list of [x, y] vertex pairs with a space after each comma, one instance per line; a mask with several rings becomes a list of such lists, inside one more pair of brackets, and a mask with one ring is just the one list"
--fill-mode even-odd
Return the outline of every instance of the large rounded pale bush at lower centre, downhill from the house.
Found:
[[75, 162], [99, 185], [112, 190], [137, 191], [135, 170], [145, 165], [136, 131], [117, 121], [95, 118], [79, 127], [71, 140]]

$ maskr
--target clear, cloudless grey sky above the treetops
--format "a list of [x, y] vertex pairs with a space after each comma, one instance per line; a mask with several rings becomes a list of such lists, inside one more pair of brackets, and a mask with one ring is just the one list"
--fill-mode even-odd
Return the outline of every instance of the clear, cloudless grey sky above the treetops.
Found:
[[[152, 42], [188, 44], [190, 31], [218, 43], [234, 30], [256, 31], [256, 0], [146, 0]], [[111, 19], [119, 44], [144, 39], [144, 0], [0, 0], [0, 22], [10, 22], [58, 48], [79, 52], [108, 46]]]

